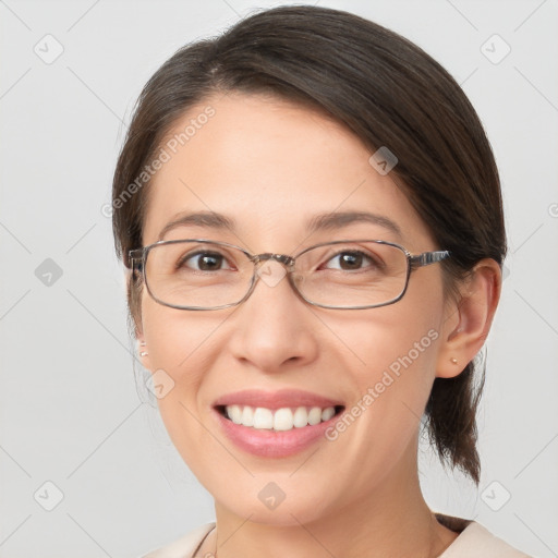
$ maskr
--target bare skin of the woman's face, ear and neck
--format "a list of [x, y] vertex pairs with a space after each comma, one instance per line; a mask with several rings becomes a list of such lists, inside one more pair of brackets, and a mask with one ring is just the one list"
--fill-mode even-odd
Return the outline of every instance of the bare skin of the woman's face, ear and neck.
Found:
[[[207, 105], [215, 116], [154, 177], [144, 245], [178, 213], [213, 210], [238, 220], [234, 233], [190, 226], [166, 240], [207, 238], [282, 254], [349, 238], [398, 242], [413, 254], [444, 248], [341, 124], [284, 100], [233, 93], [193, 107], [169, 137]], [[315, 214], [363, 208], [396, 221], [402, 236], [372, 223], [305, 233]], [[441, 277], [439, 264], [420, 268], [401, 301], [360, 311], [311, 306], [287, 280], [259, 281], [243, 304], [209, 312], [169, 308], [143, 292], [143, 363], [174, 381], [158, 400], [162, 420], [215, 498], [217, 529], [196, 556], [428, 557], [452, 543], [457, 533], [436, 521], [420, 489], [420, 417], [435, 377], [458, 375], [481, 350], [500, 271], [492, 259], [478, 263], [459, 302], [444, 299]], [[213, 401], [245, 388], [304, 389], [350, 408], [430, 329], [438, 338], [335, 441], [270, 459], [244, 452], [218, 428]], [[257, 497], [269, 482], [286, 494], [275, 510]]]

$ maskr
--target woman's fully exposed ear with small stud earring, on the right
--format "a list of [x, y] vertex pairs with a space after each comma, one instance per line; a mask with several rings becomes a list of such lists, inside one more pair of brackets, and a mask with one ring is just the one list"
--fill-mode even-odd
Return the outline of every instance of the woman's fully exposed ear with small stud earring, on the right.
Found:
[[460, 300], [448, 301], [441, 327], [436, 365], [440, 378], [461, 374], [483, 348], [500, 299], [500, 266], [492, 258], [482, 259], [459, 290]]

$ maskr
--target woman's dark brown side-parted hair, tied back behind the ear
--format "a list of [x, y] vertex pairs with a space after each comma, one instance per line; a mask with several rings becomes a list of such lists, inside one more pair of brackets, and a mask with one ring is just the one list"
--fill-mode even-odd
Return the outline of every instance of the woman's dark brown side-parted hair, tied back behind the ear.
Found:
[[[262, 93], [319, 109], [371, 148], [398, 158], [390, 177], [452, 257], [445, 294], [482, 258], [507, 252], [498, 171], [480, 119], [456, 81], [421, 48], [354, 14], [311, 5], [245, 17], [213, 39], [178, 50], [145, 85], [113, 179], [117, 254], [141, 247], [149, 183], [122, 194], [149, 165], [184, 112], [216, 94]], [[129, 324], [141, 316], [141, 277], [129, 283]], [[436, 378], [426, 405], [430, 440], [445, 464], [478, 484], [476, 409], [484, 368]], [[475, 373], [476, 369], [476, 373]], [[475, 376], [478, 380], [475, 385]]]

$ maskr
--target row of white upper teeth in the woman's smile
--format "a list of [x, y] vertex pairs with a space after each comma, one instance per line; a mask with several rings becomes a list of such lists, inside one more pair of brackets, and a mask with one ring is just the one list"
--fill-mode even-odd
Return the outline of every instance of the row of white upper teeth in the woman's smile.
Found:
[[281, 408], [276, 411], [264, 407], [227, 405], [227, 416], [234, 424], [252, 426], [257, 429], [290, 430], [293, 427], [318, 424], [329, 421], [336, 414], [333, 407], [320, 409], [319, 407], [299, 407], [296, 409]]

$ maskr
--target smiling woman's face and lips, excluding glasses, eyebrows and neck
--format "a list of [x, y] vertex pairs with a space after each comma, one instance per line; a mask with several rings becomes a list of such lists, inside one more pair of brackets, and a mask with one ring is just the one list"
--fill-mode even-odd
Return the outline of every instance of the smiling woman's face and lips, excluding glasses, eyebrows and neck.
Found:
[[[215, 113], [198, 118], [207, 106]], [[229, 94], [190, 110], [166, 141], [189, 124], [182, 146], [167, 144], [177, 153], [166, 147], [170, 160], [149, 186], [144, 245], [203, 211], [233, 220], [234, 230], [191, 223], [163, 240], [225, 241], [253, 254], [347, 239], [439, 250], [390, 174], [368, 162], [372, 153], [320, 113]], [[308, 234], [317, 215], [351, 211], [383, 216], [401, 232], [360, 220]], [[144, 289], [138, 331], [145, 366], [165, 379], [162, 420], [194, 474], [223, 509], [286, 525], [387, 498], [416, 475], [416, 433], [448, 310], [439, 265], [414, 271], [399, 302], [371, 310], [312, 306], [274, 269], [276, 281], [259, 280], [245, 302], [225, 310], [174, 310]], [[344, 410], [327, 424], [276, 432], [234, 424], [217, 402], [263, 408], [264, 422], [278, 408]]]

